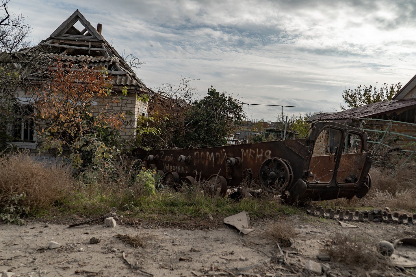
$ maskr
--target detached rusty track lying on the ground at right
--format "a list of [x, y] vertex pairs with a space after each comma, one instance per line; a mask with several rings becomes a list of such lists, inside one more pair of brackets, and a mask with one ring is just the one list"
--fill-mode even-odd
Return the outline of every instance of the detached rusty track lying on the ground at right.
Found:
[[340, 209], [332, 210], [332, 208], [324, 209], [322, 206], [310, 205], [307, 213], [311, 216], [322, 218], [336, 219], [342, 221], [361, 221], [361, 222], [384, 222], [416, 225], [416, 213], [412, 216], [407, 214], [391, 213], [389, 211], [373, 210], [373, 211], [342, 211]]

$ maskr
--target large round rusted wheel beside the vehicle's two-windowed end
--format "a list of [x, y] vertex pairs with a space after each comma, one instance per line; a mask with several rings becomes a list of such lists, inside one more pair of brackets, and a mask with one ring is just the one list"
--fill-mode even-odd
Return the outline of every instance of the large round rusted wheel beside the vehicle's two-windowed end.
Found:
[[282, 193], [292, 183], [292, 168], [282, 159], [273, 157], [265, 160], [260, 167], [260, 182], [269, 192]]

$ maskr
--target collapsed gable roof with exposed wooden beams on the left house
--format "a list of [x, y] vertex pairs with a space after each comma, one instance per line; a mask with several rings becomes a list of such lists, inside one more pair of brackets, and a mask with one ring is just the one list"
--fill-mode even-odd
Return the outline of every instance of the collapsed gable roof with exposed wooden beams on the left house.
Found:
[[[83, 26], [79, 30], [75, 25]], [[0, 61], [15, 59], [19, 61], [28, 59], [28, 56], [36, 53], [40, 60], [69, 61], [74, 64], [85, 63], [92, 68], [105, 69], [112, 76], [114, 88], [126, 86], [129, 91], [139, 94], [154, 95], [154, 91], [136, 76], [129, 64], [112, 47], [101, 34], [101, 24], [94, 28], [85, 17], [76, 10], [68, 17], [47, 39], [30, 49], [22, 49], [14, 53], [0, 54]], [[18, 65], [22, 68], [22, 65]], [[24, 65], [23, 65], [24, 66]], [[26, 75], [33, 81], [41, 80], [45, 71], [34, 72], [33, 68], [26, 70]]]

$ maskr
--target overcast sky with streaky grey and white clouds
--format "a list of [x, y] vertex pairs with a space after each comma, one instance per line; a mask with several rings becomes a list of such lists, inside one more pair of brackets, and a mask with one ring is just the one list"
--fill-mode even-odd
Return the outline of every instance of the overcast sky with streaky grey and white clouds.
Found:
[[[285, 113], [339, 110], [342, 90], [407, 83], [416, 74], [416, 1], [10, 0], [35, 44], [78, 9], [120, 52], [146, 64], [150, 88], [197, 78], [246, 103]], [[247, 105], [244, 106], [247, 110]], [[250, 106], [274, 120], [278, 107]]]

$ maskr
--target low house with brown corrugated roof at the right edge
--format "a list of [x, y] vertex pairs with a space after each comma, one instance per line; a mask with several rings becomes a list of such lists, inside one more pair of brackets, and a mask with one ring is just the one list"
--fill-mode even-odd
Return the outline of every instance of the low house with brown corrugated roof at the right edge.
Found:
[[[338, 113], [319, 113], [308, 119], [330, 120], [361, 127], [369, 135], [388, 132], [398, 140], [391, 145], [403, 149], [416, 149], [416, 75], [404, 85], [391, 101], [371, 103]], [[370, 143], [380, 143], [371, 142]]]

